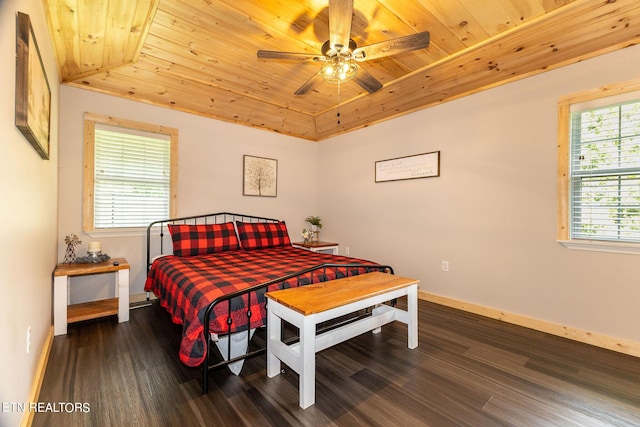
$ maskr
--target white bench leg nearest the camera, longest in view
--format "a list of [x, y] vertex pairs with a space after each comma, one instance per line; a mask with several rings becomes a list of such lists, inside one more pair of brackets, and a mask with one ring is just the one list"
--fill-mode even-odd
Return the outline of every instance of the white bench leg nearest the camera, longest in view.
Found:
[[313, 405], [316, 400], [316, 324], [315, 316], [305, 316], [300, 328], [300, 407]]

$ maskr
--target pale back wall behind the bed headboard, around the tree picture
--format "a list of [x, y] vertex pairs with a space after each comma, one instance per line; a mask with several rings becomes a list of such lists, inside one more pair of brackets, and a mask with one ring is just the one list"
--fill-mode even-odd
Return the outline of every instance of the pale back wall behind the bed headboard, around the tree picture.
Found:
[[[82, 232], [83, 114], [92, 112], [177, 128], [178, 215], [219, 211], [280, 218], [292, 239], [298, 239], [304, 218], [317, 213], [318, 144], [200, 116], [154, 107], [68, 86], [60, 88], [60, 221], [58, 259], [64, 259], [64, 236], [102, 242], [112, 257], [131, 264], [131, 294], [143, 293], [146, 276], [145, 236], [89, 236]], [[242, 195], [243, 155], [278, 160], [277, 197]], [[107, 275], [72, 280], [71, 302], [113, 295]]]

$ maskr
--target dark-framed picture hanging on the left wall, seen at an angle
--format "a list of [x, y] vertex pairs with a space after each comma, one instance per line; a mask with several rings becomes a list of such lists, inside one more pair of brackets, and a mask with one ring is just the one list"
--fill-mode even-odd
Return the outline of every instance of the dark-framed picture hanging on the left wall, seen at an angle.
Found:
[[49, 159], [51, 88], [29, 15], [16, 18], [16, 126]]

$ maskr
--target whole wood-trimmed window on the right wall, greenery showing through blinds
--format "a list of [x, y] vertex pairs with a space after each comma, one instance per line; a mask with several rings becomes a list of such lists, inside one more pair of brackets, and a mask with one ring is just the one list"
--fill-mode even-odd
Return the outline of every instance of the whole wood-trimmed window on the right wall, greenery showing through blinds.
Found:
[[640, 83], [561, 100], [559, 240], [640, 243]]

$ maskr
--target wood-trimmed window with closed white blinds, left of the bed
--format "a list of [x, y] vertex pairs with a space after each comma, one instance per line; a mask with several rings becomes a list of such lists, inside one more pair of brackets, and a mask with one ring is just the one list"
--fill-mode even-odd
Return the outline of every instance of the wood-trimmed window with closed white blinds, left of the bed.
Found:
[[177, 129], [85, 114], [84, 231], [175, 216]]

